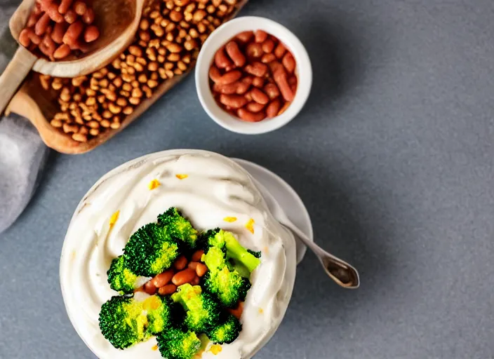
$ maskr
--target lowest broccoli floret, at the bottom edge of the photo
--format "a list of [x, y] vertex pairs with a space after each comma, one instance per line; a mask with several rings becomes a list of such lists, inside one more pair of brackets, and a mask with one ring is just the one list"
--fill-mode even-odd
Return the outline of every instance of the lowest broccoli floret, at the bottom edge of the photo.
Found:
[[177, 328], [168, 328], [156, 337], [159, 351], [165, 359], [192, 359], [201, 348], [196, 333]]

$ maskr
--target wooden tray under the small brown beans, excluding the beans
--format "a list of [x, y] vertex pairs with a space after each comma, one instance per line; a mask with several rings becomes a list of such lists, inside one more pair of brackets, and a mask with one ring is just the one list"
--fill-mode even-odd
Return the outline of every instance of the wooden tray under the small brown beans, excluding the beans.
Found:
[[[104, 1], [104, 0], [99, 0]], [[230, 14], [227, 20], [234, 18], [236, 14], [247, 4], [248, 0], [239, 1], [236, 4], [236, 10]], [[96, 2], [96, 1], [95, 1]], [[123, 49], [122, 49], [123, 50]], [[105, 64], [107, 65], [107, 64]], [[58, 94], [54, 90], [44, 90], [41, 87], [39, 81], [39, 74], [29, 74], [27, 80], [22, 85], [18, 93], [15, 94], [6, 112], [14, 112], [20, 114], [29, 119], [31, 123], [36, 127], [41, 135], [41, 139], [46, 143], [48, 147], [55, 149], [63, 154], [84, 154], [91, 151], [100, 144], [106, 142], [121, 130], [129, 126], [136, 118], [140, 116], [146, 109], [148, 109], [156, 100], [161, 97], [166, 91], [170, 90], [176, 83], [181, 81], [187, 76], [187, 74], [194, 68], [194, 63], [189, 66], [187, 72], [180, 76], [174, 76], [173, 79], [169, 79], [161, 83], [154, 89], [153, 95], [140, 102], [138, 107], [135, 107], [132, 114], [123, 118], [120, 128], [116, 130], [107, 130], [88, 142], [77, 142], [72, 140], [72, 137], [62, 133], [58, 128], [54, 128], [50, 124], [50, 119], [53, 118], [55, 113], [58, 112]]]

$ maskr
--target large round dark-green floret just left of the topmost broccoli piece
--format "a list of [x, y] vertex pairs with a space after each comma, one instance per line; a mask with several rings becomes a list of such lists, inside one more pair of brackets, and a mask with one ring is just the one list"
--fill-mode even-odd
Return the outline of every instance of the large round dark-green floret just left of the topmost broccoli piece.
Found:
[[145, 277], [156, 276], [170, 268], [178, 255], [177, 241], [156, 223], [138, 229], [123, 249], [128, 269]]

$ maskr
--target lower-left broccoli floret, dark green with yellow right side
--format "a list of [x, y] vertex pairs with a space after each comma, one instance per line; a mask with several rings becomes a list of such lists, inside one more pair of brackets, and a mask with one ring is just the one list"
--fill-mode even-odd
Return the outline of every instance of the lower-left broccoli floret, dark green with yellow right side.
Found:
[[149, 339], [147, 316], [133, 297], [112, 297], [101, 306], [100, 330], [117, 349]]

